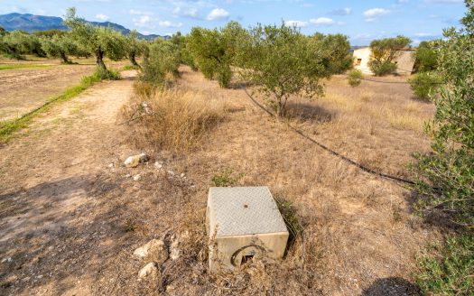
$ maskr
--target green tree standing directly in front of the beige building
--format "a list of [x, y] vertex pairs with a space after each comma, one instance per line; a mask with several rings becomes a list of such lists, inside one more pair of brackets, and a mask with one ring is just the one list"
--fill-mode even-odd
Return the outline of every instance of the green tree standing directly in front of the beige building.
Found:
[[370, 60], [368, 67], [376, 76], [393, 74], [396, 70], [395, 60], [400, 55], [400, 50], [404, 49], [412, 41], [404, 36], [386, 38], [370, 42]]

